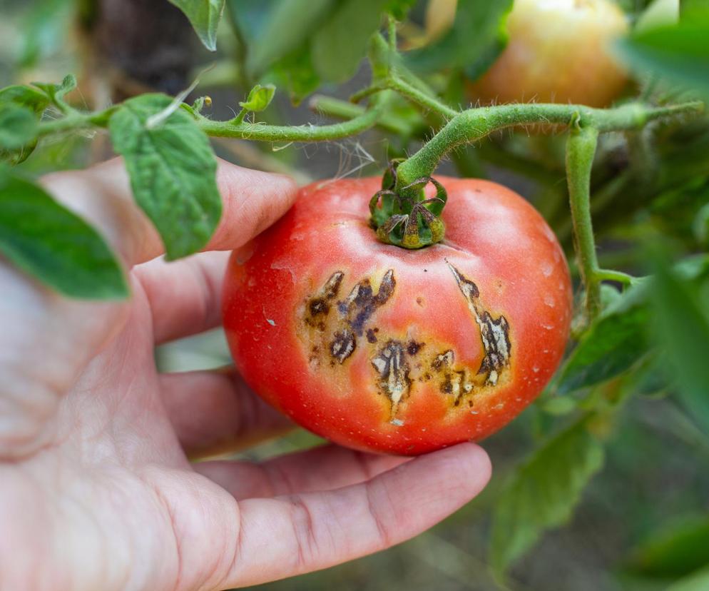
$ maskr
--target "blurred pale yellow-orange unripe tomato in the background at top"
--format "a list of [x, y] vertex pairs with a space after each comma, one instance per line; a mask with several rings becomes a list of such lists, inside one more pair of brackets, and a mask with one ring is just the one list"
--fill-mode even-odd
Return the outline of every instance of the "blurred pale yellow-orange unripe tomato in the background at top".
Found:
[[611, 0], [515, 0], [509, 43], [470, 87], [483, 103], [578, 103], [603, 107], [626, 84], [611, 44], [628, 31]]

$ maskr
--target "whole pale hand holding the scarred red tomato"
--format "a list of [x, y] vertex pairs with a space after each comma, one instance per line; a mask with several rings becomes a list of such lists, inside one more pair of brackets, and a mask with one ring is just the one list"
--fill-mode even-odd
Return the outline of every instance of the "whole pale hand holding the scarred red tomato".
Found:
[[165, 263], [120, 159], [43, 183], [120, 254], [132, 295], [69, 300], [0, 258], [0, 589], [255, 585], [407, 540], [487, 483], [472, 443], [413, 460], [324, 445], [190, 462], [286, 427], [235, 373], [160, 374], [153, 349], [220, 323], [228, 252], [295, 184], [221, 162], [215, 236]]

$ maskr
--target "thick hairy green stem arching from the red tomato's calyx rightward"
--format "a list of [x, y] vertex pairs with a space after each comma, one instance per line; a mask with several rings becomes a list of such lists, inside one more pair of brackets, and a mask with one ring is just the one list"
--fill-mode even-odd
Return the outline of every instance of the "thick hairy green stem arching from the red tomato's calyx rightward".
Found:
[[638, 128], [648, 121], [673, 114], [700, 113], [702, 108], [703, 103], [699, 101], [666, 107], [628, 103], [612, 109], [544, 103], [471, 108], [454, 116], [417, 153], [399, 166], [397, 186], [430, 176], [439, 161], [456, 146], [477, 141], [506, 127], [533, 123], [568, 126], [573, 118], [578, 118], [581, 125], [593, 126], [601, 132], [618, 131]]

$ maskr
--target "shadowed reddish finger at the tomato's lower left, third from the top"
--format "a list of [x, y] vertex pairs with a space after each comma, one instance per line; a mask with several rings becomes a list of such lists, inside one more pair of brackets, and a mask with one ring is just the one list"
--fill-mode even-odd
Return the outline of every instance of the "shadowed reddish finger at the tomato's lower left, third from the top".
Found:
[[292, 428], [232, 368], [160, 375], [175, 433], [190, 457], [253, 445]]

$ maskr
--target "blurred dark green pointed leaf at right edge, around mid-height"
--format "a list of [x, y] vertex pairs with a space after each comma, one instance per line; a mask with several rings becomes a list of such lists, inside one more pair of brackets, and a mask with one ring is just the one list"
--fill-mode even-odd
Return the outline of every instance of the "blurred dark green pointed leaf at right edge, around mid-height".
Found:
[[651, 300], [663, 368], [678, 385], [678, 395], [700, 427], [709, 433], [708, 302], [661, 261], [656, 261]]

